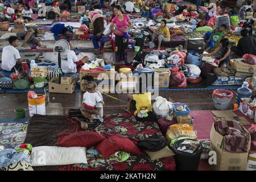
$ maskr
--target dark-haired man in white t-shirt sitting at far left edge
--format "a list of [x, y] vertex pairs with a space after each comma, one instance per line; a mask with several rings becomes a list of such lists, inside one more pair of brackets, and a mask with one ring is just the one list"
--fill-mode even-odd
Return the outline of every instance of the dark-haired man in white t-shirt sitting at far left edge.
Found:
[[22, 59], [18, 49], [15, 48], [19, 46], [19, 40], [16, 36], [10, 36], [8, 41], [10, 46], [3, 48], [1, 68], [5, 71], [15, 71], [14, 68], [19, 70], [22, 68]]

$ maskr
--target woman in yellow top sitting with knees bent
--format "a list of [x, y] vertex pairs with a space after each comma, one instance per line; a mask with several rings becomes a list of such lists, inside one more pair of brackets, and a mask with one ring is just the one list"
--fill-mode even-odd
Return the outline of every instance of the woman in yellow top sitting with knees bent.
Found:
[[152, 35], [152, 42], [154, 42], [155, 39], [158, 40], [158, 50], [161, 48], [162, 41], [164, 42], [170, 42], [171, 36], [170, 36], [170, 30], [166, 26], [167, 22], [165, 19], [161, 20], [160, 27], [154, 31], [154, 34]]

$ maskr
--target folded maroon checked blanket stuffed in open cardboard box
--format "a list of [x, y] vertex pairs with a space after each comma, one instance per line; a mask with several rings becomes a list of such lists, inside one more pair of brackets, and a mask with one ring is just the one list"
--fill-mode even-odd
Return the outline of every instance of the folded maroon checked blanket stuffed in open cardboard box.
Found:
[[235, 153], [248, 151], [250, 134], [246, 133], [237, 121], [217, 121], [214, 127], [218, 133], [225, 137], [225, 150]]

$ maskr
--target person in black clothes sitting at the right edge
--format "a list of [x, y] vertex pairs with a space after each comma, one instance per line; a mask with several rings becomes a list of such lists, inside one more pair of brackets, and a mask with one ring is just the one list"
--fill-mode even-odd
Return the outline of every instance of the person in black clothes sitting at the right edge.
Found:
[[243, 56], [246, 53], [256, 56], [256, 41], [253, 36], [249, 36], [249, 31], [246, 28], [241, 30], [242, 38], [238, 41], [237, 46], [232, 46], [231, 50], [238, 56]]

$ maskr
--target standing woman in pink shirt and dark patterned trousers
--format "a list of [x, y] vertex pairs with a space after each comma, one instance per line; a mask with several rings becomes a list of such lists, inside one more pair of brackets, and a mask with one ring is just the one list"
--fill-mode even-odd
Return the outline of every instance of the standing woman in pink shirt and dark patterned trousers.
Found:
[[[117, 5], [114, 7], [114, 14], [112, 23], [110, 24], [110, 30], [115, 34], [115, 61], [127, 62], [127, 51], [128, 51], [128, 32], [127, 30], [133, 27], [133, 23], [128, 15], [122, 14], [121, 6]], [[115, 26], [115, 28], [114, 28]]]

